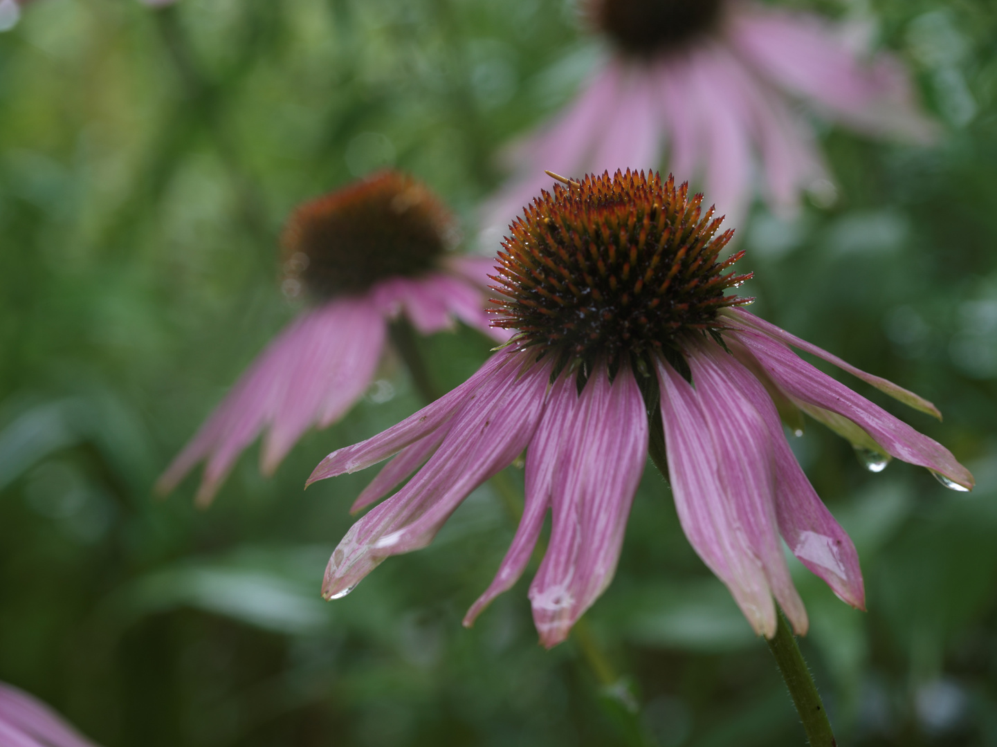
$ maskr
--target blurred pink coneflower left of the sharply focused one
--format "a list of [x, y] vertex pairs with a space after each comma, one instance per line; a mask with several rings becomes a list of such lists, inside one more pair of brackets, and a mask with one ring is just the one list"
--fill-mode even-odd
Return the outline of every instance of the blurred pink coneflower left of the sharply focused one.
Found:
[[448, 251], [454, 221], [425, 185], [382, 172], [306, 202], [284, 229], [283, 290], [312, 303], [236, 382], [157, 486], [171, 491], [206, 460], [197, 501], [214, 497], [239, 454], [266, 431], [269, 475], [312, 425], [342, 417], [370, 385], [389, 322], [423, 334], [455, 319], [498, 340], [485, 313], [488, 268]]

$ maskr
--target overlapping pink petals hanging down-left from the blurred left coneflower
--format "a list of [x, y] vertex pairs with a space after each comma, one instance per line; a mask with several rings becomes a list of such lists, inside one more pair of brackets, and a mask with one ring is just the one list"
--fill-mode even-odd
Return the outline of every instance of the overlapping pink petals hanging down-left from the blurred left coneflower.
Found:
[[214, 497], [239, 454], [267, 426], [272, 470], [313, 423], [328, 425], [366, 389], [381, 355], [384, 321], [364, 299], [314, 309], [280, 333], [242, 374], [157, 483], [168, 493], [206, 459], [197, 502]]

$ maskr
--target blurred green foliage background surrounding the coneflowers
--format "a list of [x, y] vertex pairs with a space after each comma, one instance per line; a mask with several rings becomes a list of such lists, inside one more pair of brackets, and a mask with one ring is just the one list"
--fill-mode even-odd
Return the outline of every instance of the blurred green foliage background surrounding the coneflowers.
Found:
[[[812, 425], [794, 446], [855, 541], [868, 612], [796, 565], [804, 652], [841, 744], [997, 745], [997, 5], [790, 5], [874, 21], [944, 136], [884, 145], [822, 125], [837, 200], [792, 219], [756, 205], [736, 226], [757, 273], [744, 290], [756, 313], [937, 404], [944, 423], [855, 384], [978, 484], [871, 474]], [[371, 474], [302, 484], [422, 406], [391, 359], [274, 479], [254, 447], [207, 511], [191, 478], [152, 493], [295, 313], [276, 250], [295, 203], [393, 165], [450, 202], [466, 247], [494, 250], [476, 246], [476, 208], [500, 147], [606, 54], [573, 3], [17, 10], [0, 5], [0, 680], [106, 747], [803, 743], [767, 646], [651, 467], [613, 584], [549, 652], [531, 570], [461, 626], [514, 530], [487, 486], [432, 547], [322, 601]], [[420, 344], [446, 388], [491, 347], [467, 329]]]

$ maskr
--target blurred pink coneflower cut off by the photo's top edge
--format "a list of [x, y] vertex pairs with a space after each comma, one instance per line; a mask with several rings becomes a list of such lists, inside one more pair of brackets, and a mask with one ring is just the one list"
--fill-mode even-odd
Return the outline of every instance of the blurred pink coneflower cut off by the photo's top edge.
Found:
[[658, 164], [667, 150], [669, 171], [702, 179], [735, 219], [755, 184], [781, 210], [802, 189], [827, 198], [833, 187], [796, 102], [871, 135], [925, 142], [935, 134], [900, 63], [863, 58], [816, 15], [742, 0], [585, 7], [613, 52], [566, 111], [512, 149], [517, 175], [486, 209], [493, 230], [542, 187], [538, 162], [561, 174], [601, 174]]

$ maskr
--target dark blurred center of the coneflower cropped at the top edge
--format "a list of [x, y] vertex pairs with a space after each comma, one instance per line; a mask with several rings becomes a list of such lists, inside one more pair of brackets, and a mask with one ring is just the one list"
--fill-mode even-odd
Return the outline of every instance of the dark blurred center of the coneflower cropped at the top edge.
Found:
[[648, 56], [712, 31], [723, 0], [591, 0], [595, 25], [624, 52]]

